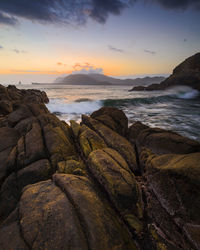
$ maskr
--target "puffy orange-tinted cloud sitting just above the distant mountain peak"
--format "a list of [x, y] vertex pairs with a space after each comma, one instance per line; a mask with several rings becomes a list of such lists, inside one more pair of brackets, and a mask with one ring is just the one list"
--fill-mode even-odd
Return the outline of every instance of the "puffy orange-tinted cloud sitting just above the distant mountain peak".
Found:
[[75, 63], [72, 68], [72, 74], [103, 74], [102, 68], [95, 68], [88, 62], [84, 64]]

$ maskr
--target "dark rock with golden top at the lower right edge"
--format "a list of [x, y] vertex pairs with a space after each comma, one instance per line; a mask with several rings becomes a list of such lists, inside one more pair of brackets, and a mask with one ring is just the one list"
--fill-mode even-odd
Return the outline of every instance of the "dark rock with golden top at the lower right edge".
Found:
[[[156, 156], [146, 165], [148, 213], [177, 249], [200, 247], [200, 153]], [[183, 237], [184, 235], [184, 237]]]

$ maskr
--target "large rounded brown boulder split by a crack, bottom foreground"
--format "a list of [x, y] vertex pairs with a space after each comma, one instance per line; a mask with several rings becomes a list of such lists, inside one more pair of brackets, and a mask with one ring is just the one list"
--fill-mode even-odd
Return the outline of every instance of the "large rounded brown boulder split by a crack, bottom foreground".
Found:
[[123, 224], [90, 181], [54, 175], [27, 187], [20, 201], [20, 227], [32, 249], [136, 249]]

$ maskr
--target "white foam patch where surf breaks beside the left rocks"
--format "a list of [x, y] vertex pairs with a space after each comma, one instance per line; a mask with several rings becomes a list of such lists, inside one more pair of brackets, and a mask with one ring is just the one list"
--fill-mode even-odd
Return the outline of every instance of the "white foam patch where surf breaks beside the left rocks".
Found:
[[47, 108], [52, 113], [89, 114], [102, 107], [101, 101], [63, 102], [60, 99], [50, 99]]

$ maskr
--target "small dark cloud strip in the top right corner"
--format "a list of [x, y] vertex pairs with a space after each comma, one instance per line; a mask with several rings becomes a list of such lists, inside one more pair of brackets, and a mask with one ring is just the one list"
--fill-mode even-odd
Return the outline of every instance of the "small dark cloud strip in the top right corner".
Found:
[[153, 0], [166, 9], [187, 9], [193, 7], [200, 10], [199, 0]]

